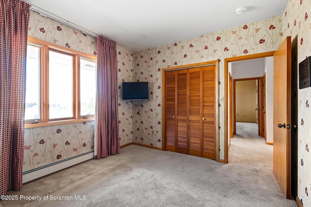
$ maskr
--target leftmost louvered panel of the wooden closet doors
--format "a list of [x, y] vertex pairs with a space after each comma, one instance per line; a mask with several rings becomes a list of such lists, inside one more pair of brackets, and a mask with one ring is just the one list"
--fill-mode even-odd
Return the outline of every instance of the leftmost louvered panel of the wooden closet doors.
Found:
[[176, 128], [175, 128], [175, 79], [176, 79], [176, 71], [167, 71], [166, 75], [166, 124], [165, 124], [165, 133], [166, 133], [166, 150], [168, 151], [176, 151]]

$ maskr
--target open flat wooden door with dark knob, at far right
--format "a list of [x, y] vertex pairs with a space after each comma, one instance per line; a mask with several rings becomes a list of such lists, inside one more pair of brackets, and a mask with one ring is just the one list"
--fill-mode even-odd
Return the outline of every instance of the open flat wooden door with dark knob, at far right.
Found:
[[286, 198], [291, 197], [291, 37], [274, 53], [273, 172]]

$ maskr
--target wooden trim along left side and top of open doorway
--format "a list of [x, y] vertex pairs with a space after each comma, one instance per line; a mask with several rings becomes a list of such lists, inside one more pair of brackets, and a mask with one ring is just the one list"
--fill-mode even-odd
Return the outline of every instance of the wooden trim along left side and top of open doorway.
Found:
[[[224, 59], [224, 68], [225, 68], [225, 91], [224, 91], [224, 102], [225, 102], [225, 110], [224, 110], [224, 123], [225, 123], [225, 142], [228, 143], [228, 82], [229, 82], [229, 75], [228, 75], [228, 62], [236, 62], [241, 60], [249, 60], [249, 59], [256, 59], [256, 58], [262, 58], [262, 57], [270, 57], [273, 56], [275, 51], [271, 52], [262, 52], [257, 54], [249, 54], [249, 55], [243, 55], [238, 57], [229, 57]], [[228, 146], [225, 144], [225, 163], [228, 163]]]

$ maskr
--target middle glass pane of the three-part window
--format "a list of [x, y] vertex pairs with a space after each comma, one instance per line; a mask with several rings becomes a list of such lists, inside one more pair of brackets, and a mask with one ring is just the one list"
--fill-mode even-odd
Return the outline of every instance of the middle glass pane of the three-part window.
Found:
[[49, 119], [73, 117], [71, 55], [49, 52]]

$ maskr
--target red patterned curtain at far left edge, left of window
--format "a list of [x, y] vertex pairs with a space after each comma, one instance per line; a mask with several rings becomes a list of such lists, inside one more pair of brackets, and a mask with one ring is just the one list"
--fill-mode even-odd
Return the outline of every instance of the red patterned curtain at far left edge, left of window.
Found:
[[30, 5], [1, 0], [0, 193], [23, 186], [24, 94]]

